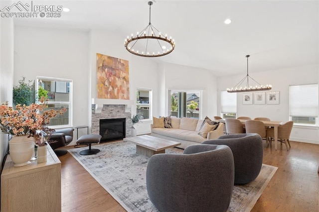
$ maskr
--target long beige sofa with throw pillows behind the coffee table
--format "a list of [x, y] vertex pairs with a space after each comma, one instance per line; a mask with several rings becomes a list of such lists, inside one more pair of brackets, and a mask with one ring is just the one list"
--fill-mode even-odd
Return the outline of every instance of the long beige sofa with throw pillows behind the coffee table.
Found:
[[205, 140], [216, 139], [223, 135], [224, 124], [219, 123], [216, 125], [210, 125], [208, 123], [203, 124], [204, 119], [194, 118], [177, 118], [170, 117], [171, 128], [164, 128], [163, 125], [151, 124], [151, 135], [167, 140], [180, 142], [181, 145], [178, 148], [186, 148], [192, 144], [199, 144]]

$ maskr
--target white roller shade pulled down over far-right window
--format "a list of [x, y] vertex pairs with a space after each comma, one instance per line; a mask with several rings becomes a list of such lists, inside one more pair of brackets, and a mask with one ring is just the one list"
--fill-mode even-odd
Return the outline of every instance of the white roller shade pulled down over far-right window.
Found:
[[289, 86], [289, 115], [318, 117], [318, 84]]

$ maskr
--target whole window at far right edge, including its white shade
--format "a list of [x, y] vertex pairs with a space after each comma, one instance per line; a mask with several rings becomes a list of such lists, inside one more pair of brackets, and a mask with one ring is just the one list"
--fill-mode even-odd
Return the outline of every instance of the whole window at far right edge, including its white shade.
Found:
[[318, 84], [289, 86], [289, 119], [318, 126]]

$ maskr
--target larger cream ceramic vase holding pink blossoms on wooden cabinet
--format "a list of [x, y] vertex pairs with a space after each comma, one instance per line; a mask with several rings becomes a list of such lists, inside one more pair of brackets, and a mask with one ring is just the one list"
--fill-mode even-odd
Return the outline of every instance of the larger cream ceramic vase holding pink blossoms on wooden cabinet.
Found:
[[26, 166], [34, 152], [34, 139], [28, 135], [12, 136], [9, 141], [9, 152], [14, 167]]

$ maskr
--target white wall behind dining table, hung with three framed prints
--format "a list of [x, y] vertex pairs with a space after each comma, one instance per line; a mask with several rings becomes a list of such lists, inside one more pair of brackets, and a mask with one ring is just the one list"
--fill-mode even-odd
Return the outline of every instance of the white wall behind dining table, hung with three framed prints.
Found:
[[[279, 91], [280, 103], [279, 105], [243, 105], [243, 93], [237, 93], [237, 116], [269, 117], [271, 120], [286, 122], [289, 120], [289, 86], [318, 83], [319, 65], [254, 72], [250, 76], [262, 85], [272, 85], [272, 91]], [[220, 91], [233, 87], [243, 77], [243, 75], [236, 75], [218, 78], [218, 96], [220, 96]], [[218, 113], [220, 114], [219, 104]], [[318, 127], [294, 126], [291, 140], [319, 144], [319, 129]]]

